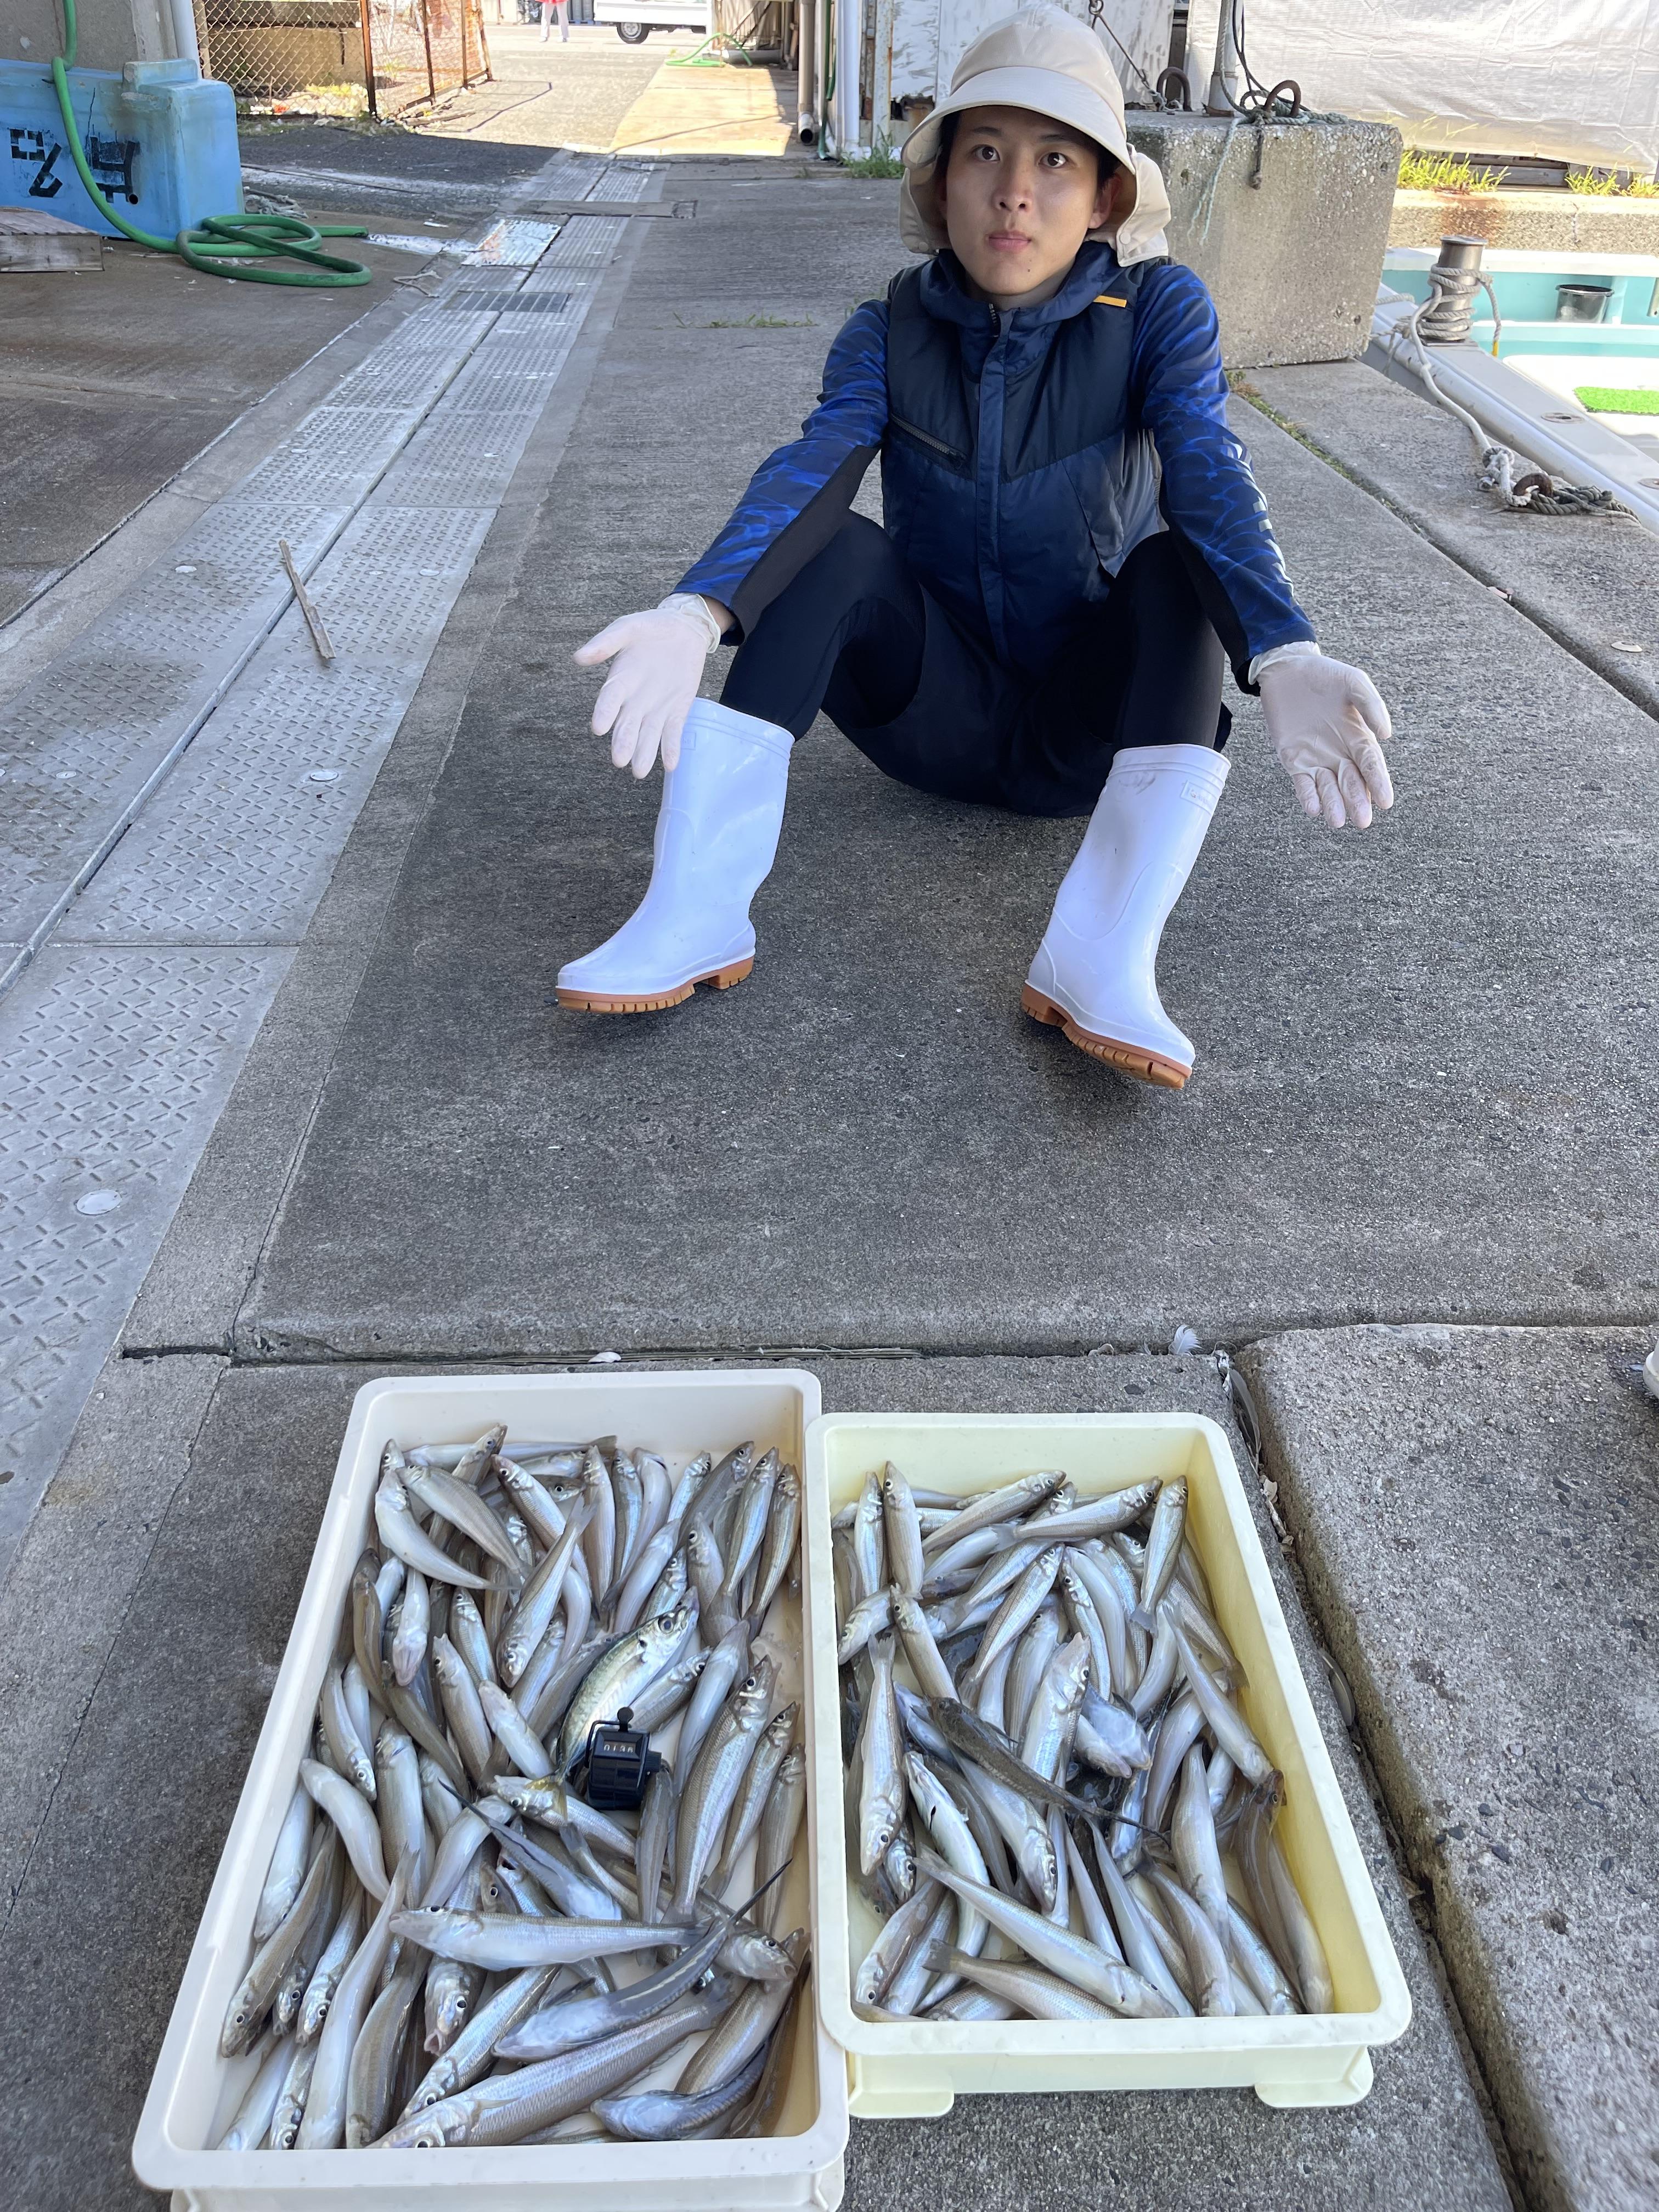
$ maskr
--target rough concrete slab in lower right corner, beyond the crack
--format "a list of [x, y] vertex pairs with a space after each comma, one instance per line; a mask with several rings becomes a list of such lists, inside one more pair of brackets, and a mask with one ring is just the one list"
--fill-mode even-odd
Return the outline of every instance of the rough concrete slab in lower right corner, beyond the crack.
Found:
[[1646, 1332], [1245, 1354], [1279, 1509], [1522, 2199], [1659, 2199], [1659, 1407]]

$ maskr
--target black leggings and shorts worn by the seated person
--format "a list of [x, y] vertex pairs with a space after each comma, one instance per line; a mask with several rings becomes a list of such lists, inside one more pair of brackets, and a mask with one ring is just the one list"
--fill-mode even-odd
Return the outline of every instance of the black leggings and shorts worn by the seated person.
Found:
[[823, 710], [876, 768], [1015, 814], [1088, 814], [1124, 745], [1223, 745], [1221, 639], [1172, 533], [1146, 538], [1040, 675], [1002, 668], [849, 515], [761, 613], [721, 699], [805, 737]]

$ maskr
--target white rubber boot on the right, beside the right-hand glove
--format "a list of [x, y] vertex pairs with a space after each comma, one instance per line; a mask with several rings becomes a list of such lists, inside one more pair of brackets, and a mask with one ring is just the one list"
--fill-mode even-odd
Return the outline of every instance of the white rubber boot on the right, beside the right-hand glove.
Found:
[[1022, 993], [1082, 1051], [1166, 1091], [1192, 1073], [1192, 1044], [1157, 995], [1157, 945], [1225, 781], [1208, 745], [1115, 757]]

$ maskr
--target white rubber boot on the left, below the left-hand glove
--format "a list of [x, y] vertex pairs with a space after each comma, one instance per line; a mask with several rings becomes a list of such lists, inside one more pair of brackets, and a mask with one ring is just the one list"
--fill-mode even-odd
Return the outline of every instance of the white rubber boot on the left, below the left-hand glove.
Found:
[[562, 1006], [653, 1013], [699, 982], [743, 982], [754, 967], [750, 900], [779, 849], [792, 748], [772, 721], [695, 701], [679, 765], [661, 779], [650, 887], [613, 938], [560, 969]]

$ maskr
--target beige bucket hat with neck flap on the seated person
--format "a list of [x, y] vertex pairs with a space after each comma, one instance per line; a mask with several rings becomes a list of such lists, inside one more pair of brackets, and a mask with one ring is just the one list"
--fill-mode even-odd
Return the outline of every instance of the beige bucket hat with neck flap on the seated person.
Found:
[[1157, 161], [1135, 153], [1124, 128], [1124, 93], [1104, 44], [1053, 0], [1026, 0], [973, 40], [956, 64], [947, 100], [925, 115], [905, 139], [905, 181], [898, 188], [898, 234], [914, 254], [933, 254], [949, 243], [933, 199], [938, 126], [964, 108], [1031, 108], [1071, 124], [1135, 175], [1128, 215], [1091, 239], [1115, 248], [1124, 268], [1168, 252], [1164, 226], [1170, 195]]

